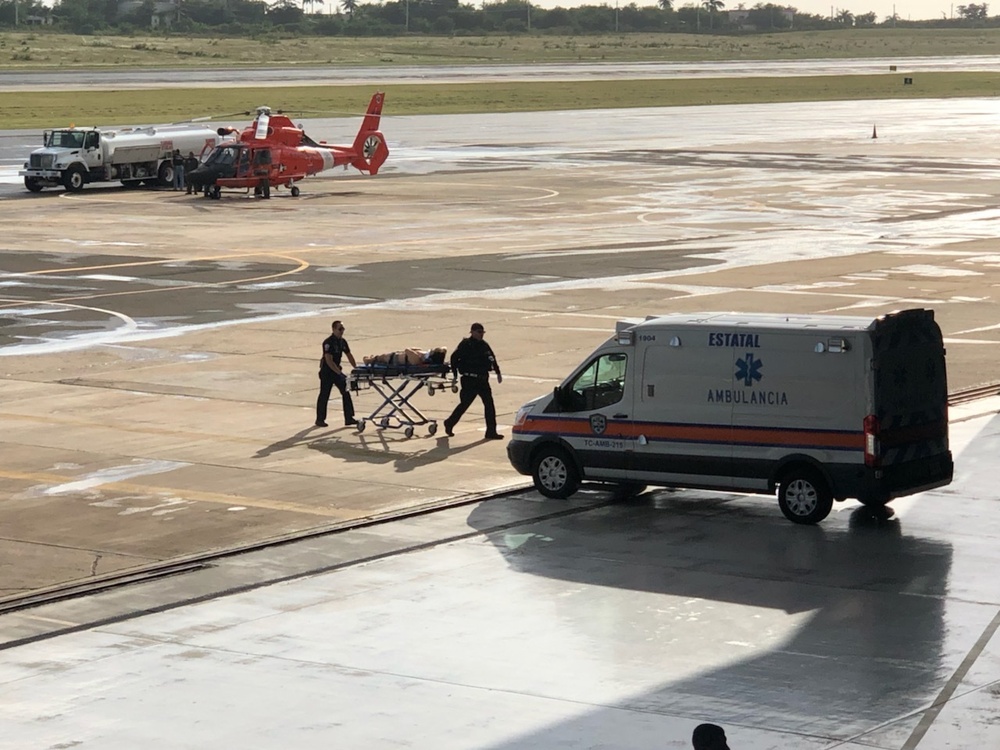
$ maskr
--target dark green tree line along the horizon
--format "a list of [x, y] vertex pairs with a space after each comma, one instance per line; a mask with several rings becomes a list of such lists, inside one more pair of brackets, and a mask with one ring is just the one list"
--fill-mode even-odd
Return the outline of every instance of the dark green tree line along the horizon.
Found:
[[[320, 6], [317, 8], [317, 6]], [[0, 27], [29, 19], [51, 18], [51, 28], [75, 34], [134, 33], [152, 26], [175, 32], [244, 36], [282, 30], [320, 36], [394, 36], [401, 34], [482, 35], [618, 33], [772, 33], [783, 30], [831, 30], [880, 25], [908, 27], [1000, 26], [986, 4], [960, 5], [954, 18], [904, 21], [878, 18], [874, 12], [836, 10], [830, 16], [800, 13], [794, 7], [741, 3], [730, 13], [723, 0], [702, 0], [675, 7], [674, 0], [654, 5], [607, 3], [545, 9], [525, 0], [481, 5], [459, 0], [341, 0], [325, 13], [321, 0], [181, 0], [167, 6], [154, 0], [57, 0], [49, 10], [40, 0], [0, 1]], [[33, 19], [33, 20], [34, 20]]]

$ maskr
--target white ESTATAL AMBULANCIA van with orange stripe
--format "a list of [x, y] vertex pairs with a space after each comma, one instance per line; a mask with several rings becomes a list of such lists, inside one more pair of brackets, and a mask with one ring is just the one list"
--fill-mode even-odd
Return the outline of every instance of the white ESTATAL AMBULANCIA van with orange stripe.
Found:
[[[583, 480], [778, 492], [795, 523], [948, 484], [948, 386], [931, 310], [619, 321], [517, 413], [511, 464], [539, 492]], [[641, 491], [641, 490], [640, 490]]]

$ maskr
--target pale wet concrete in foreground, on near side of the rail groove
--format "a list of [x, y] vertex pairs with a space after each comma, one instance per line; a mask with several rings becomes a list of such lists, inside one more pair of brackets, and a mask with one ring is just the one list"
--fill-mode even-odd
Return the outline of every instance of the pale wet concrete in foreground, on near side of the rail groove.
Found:
[[0, 746], [1000, 746], [1000, 417], [954, 416], [888, 521], [524, 493], [9, 615]]

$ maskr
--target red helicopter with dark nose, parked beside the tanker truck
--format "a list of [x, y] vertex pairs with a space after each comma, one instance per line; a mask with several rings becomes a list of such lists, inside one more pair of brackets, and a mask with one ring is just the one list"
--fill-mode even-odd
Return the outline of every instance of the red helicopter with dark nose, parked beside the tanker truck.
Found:
[[384, 98], [381, 91], [372, 97], [350, 146], [314, 141], [287, 115], [258, 107], [257, 119], [250, 127], [242, 131], [219, 128], [219, 135], [236, 135], [236, 139], [212, 149], [187, 180], [206, 197], [219, 198], [223, 188], [252, 188], [255, 195], [270, 198], [271, 188], [278, 187], [287, 187], [292, 196], [298, 196], [298, 182], [333, 167], [353, 166], [377, 174], [389, 156], [385, 137], [378, 129]]

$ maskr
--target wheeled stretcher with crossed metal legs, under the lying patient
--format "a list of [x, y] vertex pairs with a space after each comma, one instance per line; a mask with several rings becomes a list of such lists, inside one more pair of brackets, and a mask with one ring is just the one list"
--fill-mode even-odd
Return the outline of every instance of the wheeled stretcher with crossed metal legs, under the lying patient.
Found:
[[458, 392], [454, 379], [449, 380], [447, 364], [366, 364], [351, 371], [349, 386], [359, 393], [369, 388], [382, 397], [382, 403], [367, 417], [358, 419], [358, 432], [364, 432], [368, 422], [379, 429], [402, 429], [413, 437], [414, 428], [427, 425], [427, 433], [437, 432], [437, 420], [429, 419], [410, 399], [423, 388], [427, 395], [450, 388]]

